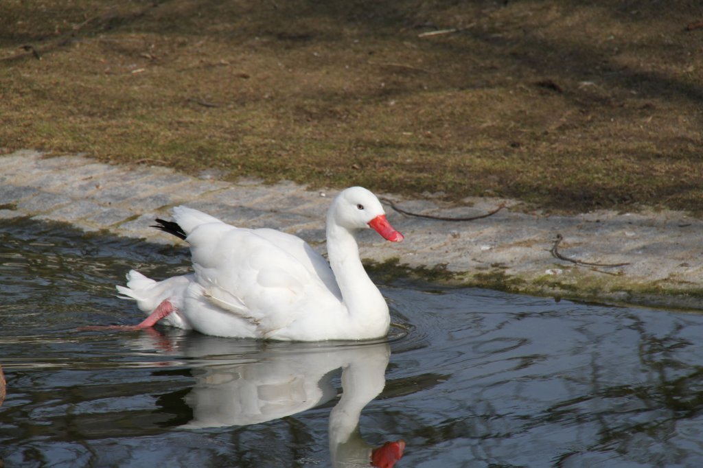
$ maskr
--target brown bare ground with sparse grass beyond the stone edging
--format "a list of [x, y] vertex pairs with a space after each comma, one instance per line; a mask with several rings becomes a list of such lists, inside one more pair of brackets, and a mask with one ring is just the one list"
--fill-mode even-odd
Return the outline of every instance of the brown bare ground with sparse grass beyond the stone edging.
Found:
[[698, 1], [0, 3], [0, 147], [226, 180], [703, 207]]

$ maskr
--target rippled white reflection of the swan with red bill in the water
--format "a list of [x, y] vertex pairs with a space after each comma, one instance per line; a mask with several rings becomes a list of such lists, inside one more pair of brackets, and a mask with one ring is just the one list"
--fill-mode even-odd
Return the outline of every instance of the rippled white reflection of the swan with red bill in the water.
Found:
[[330, 413], [333, 464], [368, 467], [373, 459], [372, 466], [392, 467], [402, 456], [403, 441], [373, 450], [359, 432], [361, 410], [385, 386], [387, 343], [272, 344], [257, 349], [249, 342], [253, 352], [243, 353], [240, 341], [188, 338], [181, 351], [198, 364], [193, 366], [197, 383], [186, 396], [193, 420], [184, 428], [257, 424], [314, 408], [335, 398], [331, 380], [342, 368], [343, 393]]

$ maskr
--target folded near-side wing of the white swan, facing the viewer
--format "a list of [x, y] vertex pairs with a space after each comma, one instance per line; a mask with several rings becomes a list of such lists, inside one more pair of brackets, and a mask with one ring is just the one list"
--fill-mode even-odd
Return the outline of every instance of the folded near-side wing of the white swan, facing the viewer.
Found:
[[255, 230], [205, 223], [188, 242], [203, 297], [263, 336], [295, 321], [309, 299], [333, 296], [296, 256]]

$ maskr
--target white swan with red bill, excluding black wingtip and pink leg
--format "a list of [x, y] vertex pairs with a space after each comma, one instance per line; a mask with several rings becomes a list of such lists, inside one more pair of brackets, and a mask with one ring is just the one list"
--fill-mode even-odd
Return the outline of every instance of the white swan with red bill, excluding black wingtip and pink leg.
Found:
[[117, 287], [147, 313], [172, 306], [162, 323], [220, 337], [300, 341], [387, 333], [388, 306], [361, 265], [354, 234], [373, 226], [388, 240], [403, 236], [365, 188], [342, 191], [330, 206], [330, 264], [278, 230], [236, 228], [186, 207], [174, 208], [174, 219], [191, 245], [194, 273], [156, 282], [130, 271], [127, 287]]

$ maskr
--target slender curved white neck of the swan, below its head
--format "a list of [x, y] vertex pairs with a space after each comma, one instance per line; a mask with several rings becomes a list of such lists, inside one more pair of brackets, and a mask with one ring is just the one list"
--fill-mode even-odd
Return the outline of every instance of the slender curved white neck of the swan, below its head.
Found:
[[363, 327], [370, 334], [368, 338], [386, 334], [390, 321], [388, 306], [363, 269], [354, 233], [328, 222], [327, 252], [351, 325]]

